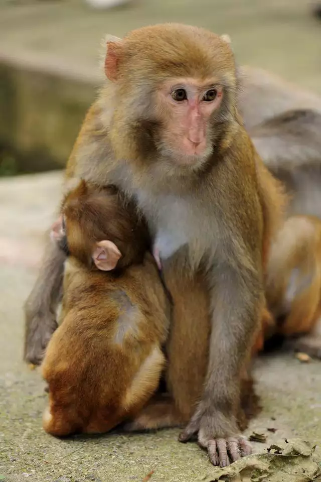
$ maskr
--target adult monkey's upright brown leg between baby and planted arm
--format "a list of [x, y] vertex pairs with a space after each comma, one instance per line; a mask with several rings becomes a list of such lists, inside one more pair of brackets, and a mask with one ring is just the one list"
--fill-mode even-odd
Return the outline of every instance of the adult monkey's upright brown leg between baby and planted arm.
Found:
[[173, 299], [166, 381], [178, 410], [189, 420], [201, 399], [208, 366], [208, 290], [204, 275], [192, 278], [175, 265], [165, 271], [165, 281]]

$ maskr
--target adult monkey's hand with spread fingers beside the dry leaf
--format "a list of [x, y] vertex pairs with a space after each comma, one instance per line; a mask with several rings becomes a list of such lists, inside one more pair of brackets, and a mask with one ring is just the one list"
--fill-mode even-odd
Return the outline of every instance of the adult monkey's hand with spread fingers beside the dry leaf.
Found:
[[201, 402], [187, 427], [180, 433], [180, 442], [187, 442], [198, 432], [199, 444], [206, 448], [213, 465], [226, 467], [252, 453], [251, 444], [238, 435], [236, 423], [222, 412], [205, 407]]

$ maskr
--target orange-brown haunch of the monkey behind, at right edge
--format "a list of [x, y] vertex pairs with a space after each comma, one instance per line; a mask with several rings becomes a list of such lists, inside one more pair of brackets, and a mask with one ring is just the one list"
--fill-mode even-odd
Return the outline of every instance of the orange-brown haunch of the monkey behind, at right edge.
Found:
[[321, 221], [291, 216], [272, 244], [266, 297], [274, 324], [265, 337], [304, 335], [295, 347], [321, 358]]

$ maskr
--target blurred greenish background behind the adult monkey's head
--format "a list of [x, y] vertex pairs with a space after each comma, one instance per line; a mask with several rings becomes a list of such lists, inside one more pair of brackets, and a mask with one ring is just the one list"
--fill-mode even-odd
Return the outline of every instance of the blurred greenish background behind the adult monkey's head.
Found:
[[321, 93], [321, 21], [309, 0], [0, 3], [0, 175], [63, 166], [101, 81], [106, 33], [177, 21], [228, 33], [239, 63]]

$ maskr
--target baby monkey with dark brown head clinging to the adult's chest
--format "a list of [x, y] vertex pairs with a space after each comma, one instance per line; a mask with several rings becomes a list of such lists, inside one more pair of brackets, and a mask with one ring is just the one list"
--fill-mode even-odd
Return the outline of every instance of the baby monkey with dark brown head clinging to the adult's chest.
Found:
[[106, 432], [156, 390], [170, 305], [147, 228], [114, 186], [81, 181], [66, 196], [52, 238], [70, 256], [62, 322], [42, 364], [49, 387], [43, 426], [58, 436]]

